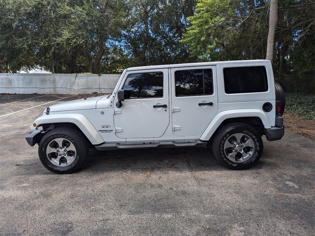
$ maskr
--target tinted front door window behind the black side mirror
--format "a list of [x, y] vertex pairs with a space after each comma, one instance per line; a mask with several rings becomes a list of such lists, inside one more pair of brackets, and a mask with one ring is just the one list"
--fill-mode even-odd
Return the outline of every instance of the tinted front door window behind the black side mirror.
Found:
[[123, 90], [126, 99], [163, 97], [163, 73], [130, 74]]

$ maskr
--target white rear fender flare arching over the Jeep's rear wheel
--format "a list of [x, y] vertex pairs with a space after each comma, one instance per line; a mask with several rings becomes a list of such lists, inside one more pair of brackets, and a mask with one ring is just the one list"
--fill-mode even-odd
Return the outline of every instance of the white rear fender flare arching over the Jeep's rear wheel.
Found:
[[261, 119], [262, 124], [265, 129], [270, 129], [268, 118], [266, 114], [259, 109], [237, 109], [237, 110], [226, 110], [221, 111], [215, 115], [213, 120], [210, 122], [209, 126], [205, 129], [201, 135], [201, 140], [209, 140], [217, 128], [221, 125], [223, 121], [230, 118], [239, 118], [239, 117], [258, 117]]

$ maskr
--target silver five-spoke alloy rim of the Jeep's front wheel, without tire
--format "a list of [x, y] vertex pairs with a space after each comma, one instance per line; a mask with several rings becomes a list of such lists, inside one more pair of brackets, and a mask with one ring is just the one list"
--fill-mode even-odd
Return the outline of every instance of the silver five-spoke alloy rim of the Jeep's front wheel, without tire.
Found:
[[48, 160], [55, 166], [69, 166], [76, 157], [76, 148], [65, 138], [55, 138], [46, 149]]

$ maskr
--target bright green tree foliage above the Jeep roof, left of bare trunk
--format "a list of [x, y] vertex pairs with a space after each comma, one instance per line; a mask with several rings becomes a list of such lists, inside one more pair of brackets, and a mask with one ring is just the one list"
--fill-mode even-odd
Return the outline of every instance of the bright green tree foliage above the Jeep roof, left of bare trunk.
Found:
[[267, 26], [257, 20], [264, 1], [200, 0], [182, 42], [199, 61], [265, 57]]

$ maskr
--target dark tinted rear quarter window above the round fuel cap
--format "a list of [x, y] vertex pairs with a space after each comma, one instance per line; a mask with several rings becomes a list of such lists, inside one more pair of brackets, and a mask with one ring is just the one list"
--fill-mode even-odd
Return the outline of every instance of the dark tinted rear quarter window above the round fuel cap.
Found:
[[268, 91], [264, 66], [230, 67], [223, 69], [225, 93], [261, 93]]

